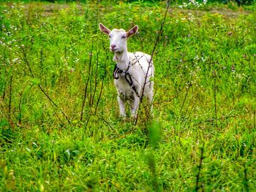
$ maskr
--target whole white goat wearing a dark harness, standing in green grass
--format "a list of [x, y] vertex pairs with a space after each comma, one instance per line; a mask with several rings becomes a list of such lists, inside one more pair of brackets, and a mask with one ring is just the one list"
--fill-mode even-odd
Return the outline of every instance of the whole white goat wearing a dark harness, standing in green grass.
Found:
[[126, 116], [125, 101], [128, 101], [131, 115], [137, 118], [138, 107], [142, 95], [148, 100], [152, 110], [154, 66], [151, 56], [146, 53], [127, 51], [127, 39], [138, 31], [134, 26], [129, 31], [114, 28], [110, 31], [102, 23], [99, 29], [110, 38], [110, 50], [115, 53], [113, 61], [116, 67], [113, 71], [114, 83], [118, 93], [117, 99], [120, 115]]

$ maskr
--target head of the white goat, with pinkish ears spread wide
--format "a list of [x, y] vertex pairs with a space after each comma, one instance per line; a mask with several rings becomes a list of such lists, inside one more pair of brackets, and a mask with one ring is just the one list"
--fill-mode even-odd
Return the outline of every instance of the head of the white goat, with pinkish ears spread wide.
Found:
[[99, 23], [99, 29], [110, 38], [110, 50], [114, 53], [121, 53], [127, 50], [127, 39], [137, 33], [138, 26], [134, 26], [129, 31], [125, 31], [122, 28], [114, 28], [110, 31], [102, 23]]

